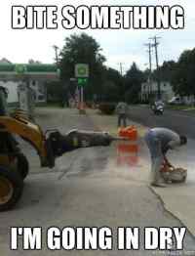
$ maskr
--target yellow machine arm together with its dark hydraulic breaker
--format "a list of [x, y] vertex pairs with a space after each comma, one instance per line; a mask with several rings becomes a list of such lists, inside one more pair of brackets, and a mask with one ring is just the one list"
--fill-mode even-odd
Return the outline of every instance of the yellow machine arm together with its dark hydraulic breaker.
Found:
[[53, 168], [55, 160], [67, 151], [80, 148], [109, 146], [115, 140], [105, 132], [71, 130], [61, 135], [59, 130], [48, 130], [43, 133], [39, 125], [32, 123], [20, 112], [13, 116], [0, 116], [0, 133], [9, 133], [20, 136], [36, 149], [42, 167]]

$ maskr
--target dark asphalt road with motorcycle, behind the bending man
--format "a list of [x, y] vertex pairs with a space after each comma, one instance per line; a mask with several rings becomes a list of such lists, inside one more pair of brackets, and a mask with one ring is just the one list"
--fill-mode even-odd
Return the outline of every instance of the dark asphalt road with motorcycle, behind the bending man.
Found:
[[183, 110], [166, 109], [163, 115], [154, 115], [149, 107], [131, 107], [130, 119], [148, 127], [167, 127], [195, 139], [195, 114]]

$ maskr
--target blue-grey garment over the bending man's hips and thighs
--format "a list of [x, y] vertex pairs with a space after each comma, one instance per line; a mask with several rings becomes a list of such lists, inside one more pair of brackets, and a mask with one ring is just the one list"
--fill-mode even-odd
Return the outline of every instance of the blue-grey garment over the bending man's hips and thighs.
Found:
[[145, 135], [145, 142], [150, 150], [151, 158], [163, 157], [161, 142], [151, 130]]

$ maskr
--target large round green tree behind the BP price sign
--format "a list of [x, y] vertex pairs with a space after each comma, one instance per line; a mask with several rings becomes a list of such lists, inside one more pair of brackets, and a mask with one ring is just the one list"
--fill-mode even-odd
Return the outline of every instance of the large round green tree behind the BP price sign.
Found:
[[75, 89], [69, 82], [69, 79], [74, 77], [75, 64], [89, 64], [90, 77], [85, 88], [86, 98], [92, 100], [93, 95], [101, 98], [105, 58], [100, 52], [98, 42], [86, 33], [72, 34], [65, 38], [65, 44], [60, 53], [60, 71], [61, 80], [67, 91], [73, 93]]

